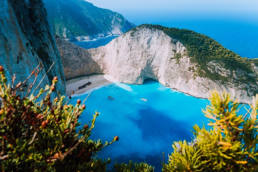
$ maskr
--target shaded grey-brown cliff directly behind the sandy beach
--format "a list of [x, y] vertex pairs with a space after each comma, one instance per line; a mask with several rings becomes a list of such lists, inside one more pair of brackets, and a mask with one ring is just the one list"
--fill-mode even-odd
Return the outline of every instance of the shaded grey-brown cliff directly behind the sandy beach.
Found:
[[65, 79], [88, 74], [102, 74], [88, 50], [55, 36], [62, 59]]

